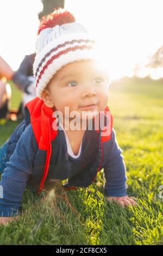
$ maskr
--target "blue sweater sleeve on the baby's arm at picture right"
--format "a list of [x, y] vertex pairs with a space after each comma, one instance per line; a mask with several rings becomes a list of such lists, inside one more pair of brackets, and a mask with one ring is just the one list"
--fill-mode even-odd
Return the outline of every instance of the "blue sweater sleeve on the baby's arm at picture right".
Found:
[[111, 140], [105, 145], [104, 162], [104, 194], [105, 196], [122, 197], [127, 196], [126, 192], [126, 165], [123, 160], [122, 149], [116, 141], [116, 133], [112, 128]]

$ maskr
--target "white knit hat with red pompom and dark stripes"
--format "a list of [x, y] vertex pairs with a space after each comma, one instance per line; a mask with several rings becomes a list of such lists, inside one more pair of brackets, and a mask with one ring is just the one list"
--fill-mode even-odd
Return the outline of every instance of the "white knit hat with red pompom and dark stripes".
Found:
[[54, 10], [40, 23], [34, 61], [36, 95], [42, 92], [54, 74], [68, 63], [77, 60], [96, 60], [97, 42], [86, 29], [64, 10]]

